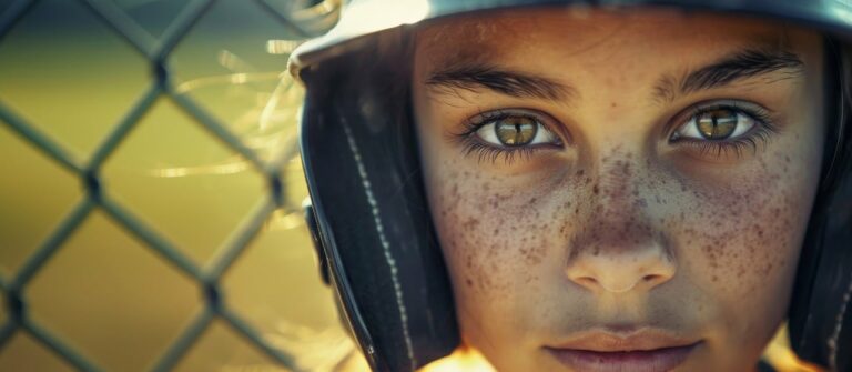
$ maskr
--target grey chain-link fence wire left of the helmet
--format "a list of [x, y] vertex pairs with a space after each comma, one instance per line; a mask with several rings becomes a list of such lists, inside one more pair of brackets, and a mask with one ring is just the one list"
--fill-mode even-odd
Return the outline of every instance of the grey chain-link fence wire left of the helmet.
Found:
[[[58, 141], [54, 141], [50, 135], [28, 123], [10, 107], [0, 102], [0, 125], [8, 127], [12, 132], [29, 142], [33, 148], [43, 152], [57, 164], [75, 174], [85, 190], [85, 198], [64, 215], [61, 223], [27, 258], [18, 272], [11, 275], [11, 278], [0, 278], [0, 291], [6, 294], [6, 306], [9, 313], [7, 322], [0, 325], [0, 350], [9, 343], [16, 332], [26, 332], [40, 342], [41, 345], [51, 350], [67, 363], [79, 370], [103, 370], [71, 343], [62, 340], [48, 328], [29, 316], [27, 298], [24, 295], [28, 283], [61, 250], [68, 238], [74, 233], [90, 214], [100, 210], [141, 241], [144, 247], [170, 263], [174, 270], [193, 279], [205, 302], [202, 311], [194, 315], [189, 325], [182, 330], [173, 343], [152, 364], [153, 371], [169, 371], [174, 368], [186, 354], [187, 350], [199, 340], [200, 335], [216, 320], [224, 321], [244, 336], [255, 349], [271, 356], [281, 366], [293, 371], [300, 370], [295, 362], [295, 355], [264, 340], [261, 333], [239, 313], [229, 309], [222, 301], [222, 289], [220, 286], [222, 275], [236, 261], [248, 243], [252, 242], [253, 238], [257, 235], [264, 221], [276, 209], [284, 208], [285, 203], [288, 203], [285, 183], [282, 182], [280, 170], [285, 162], [296, 154], [295, 143], [291, 144], [291, 149], [281, 151], [271, 160], [262, 160], [255, 150], [246, 145], [225, 124], [207, 113], [193, 99], [186, 95], [184, 91], [176, 89], [172, 80], [172, 71], [168, 64], [170, 53], [216, 0], [189, 1], [186, 7], [159, 38], [152, 37], [138, 22], [132, 20], [121, 7], [110, 0], [74, 1], [84, 4], [89, 11], [142, 54], [150, 66], [153, 80], [151, 87], [148, 88], [118, 124], [105, 135], [105, 139], [88, 160], [78, 159]], [[297, 22], [288, 18], [287, 14], [274, 9], [266, 1], [251, 1], [270, 14], [273, 14], [281, 22], [281, 26], [293, 34], [303, 39], [312, 36], [311, 32], [300, 28]], [[20, 20], [27, 17], [28, 12], [38, 2], [39, 0], [16, 0], [0, 13], [0, 41]], [[323, 6], [325, 9], [329, 9], [329, 7], [336, 8], [339, 7], [339, 1], [326, 1], [320, 6]], [[305, 9], [301, 9], [301, 11], [305, 11]], [[179, 108], [194, 118], [210, 134], [247, 160], [251, 167], [265, 178], [267, 183], [267, 197], [244, 218], [242, 223], [223, 244], [223, 251], [217, 254], [212, 264], [206, 267], [200, 267], [193, 262], [163, 234], [145, 224], [130, 209], [108, 197], [103, 190], [104, 187], [100, 175], [101, 167], [159, 99], [169, 99], [176, 103]]]

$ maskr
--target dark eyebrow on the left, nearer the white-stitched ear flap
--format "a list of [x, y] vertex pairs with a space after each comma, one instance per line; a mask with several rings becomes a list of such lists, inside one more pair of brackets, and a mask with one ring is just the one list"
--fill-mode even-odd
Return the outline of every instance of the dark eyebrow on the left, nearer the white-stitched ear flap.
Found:
[[460, 64], [436, 71], [426, 79], [426, 84], [469, 91], [487, 88], [506, 95], [551, 101], [565, 101], [577, 95], [572, 87], [555, 80], [481, 63]]

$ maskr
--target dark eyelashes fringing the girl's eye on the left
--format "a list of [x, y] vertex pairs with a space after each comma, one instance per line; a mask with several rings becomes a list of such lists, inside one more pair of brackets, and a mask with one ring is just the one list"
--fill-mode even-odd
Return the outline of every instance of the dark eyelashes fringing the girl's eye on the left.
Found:
[[[525, 110], [527, 111], [527, 110]], [[519, 145], [519, 147], [505, 147], [505, 148], [498, 148], [488, 143], [483, 142], [481, 140], [476, 139], [476, 131], [480, 128], [508, 118], [514, 117], [521, 117], [521, 118], [529, 118], [535, 120], [537, 123], [541, 125], [542, 129], [555, 132], [549, 125], [545, 123], [545, 121], [539, 114], [534, 114], [531, 112], [516, 112], [516, 111], [507, 111], [507, 110], [495, 110], [495, 111], [488, 111], [488, 112], [480, 112], [476, 117], [474, 117], [473, 120], [468, 120], [464, 122], [465, 130], [462, 133], [452, 134], [454, 140], [462, 144], [462, 151], [465, 154], [465, 157], [469, 155], [476, 155], [477, 160], [479, 162], [483, 161], [489, 161], [491, 163], [496, 163], [497, 160], [503, 158], [503, 161], [510, 165], [514, 163], [518, 158], [521, 160], [528, 160], [534, 153], [546, 149], [546, 148], [561, 148], [562, 143], [561, 140], [558, 143], [554, 144], [534, 144], [534, 145]]]

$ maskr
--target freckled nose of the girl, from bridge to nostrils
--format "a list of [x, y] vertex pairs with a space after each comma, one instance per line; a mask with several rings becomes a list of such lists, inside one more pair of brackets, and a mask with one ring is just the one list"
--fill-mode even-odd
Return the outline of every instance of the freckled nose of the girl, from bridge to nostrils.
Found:
[[566, 274], [592, 291], [650, 289], [674, 274], [665, 232], [642, 198], [649, 179], [631, 152], [616, 148], [592, 164], [588, 214], [569, 242]]

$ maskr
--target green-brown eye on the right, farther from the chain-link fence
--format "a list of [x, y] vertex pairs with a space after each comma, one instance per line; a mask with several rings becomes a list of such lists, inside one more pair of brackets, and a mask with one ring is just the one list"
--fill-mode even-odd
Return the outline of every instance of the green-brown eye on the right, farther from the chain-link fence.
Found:
[[751, 131], [757, 120], [733, 108], [713, 108], [698, 111], [674, 132], [673, 139], [723, 141], [736, 139]]

